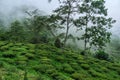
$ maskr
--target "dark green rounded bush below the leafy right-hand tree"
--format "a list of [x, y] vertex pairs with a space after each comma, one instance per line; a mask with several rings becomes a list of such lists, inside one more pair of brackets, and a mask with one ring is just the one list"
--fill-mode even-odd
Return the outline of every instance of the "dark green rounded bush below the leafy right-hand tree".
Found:
[[101, 60], [109, 60], [109, 55], [105, 53], [103, 50], [99, 50], [95, 54], [95, 58], [101, 59]]

